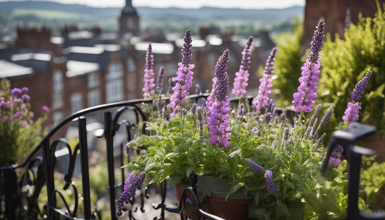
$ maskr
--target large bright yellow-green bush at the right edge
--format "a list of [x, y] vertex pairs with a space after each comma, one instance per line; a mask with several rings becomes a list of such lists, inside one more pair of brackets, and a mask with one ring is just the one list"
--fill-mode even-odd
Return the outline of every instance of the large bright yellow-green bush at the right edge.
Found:
[[[321, 74], [319, 97], [323, 102], [333, 102], [335, 120], [330, 128], [335, 127], [344, 114], [346, 105], [351, 101], [351, 94], [358, 82], [369, 70], [372, 77], [360, 100], [359, 121], [377, 126], [380, 135], [384, 135], [385, 126], [385, 13], [377, 2], [375, 18], [362, 18], [358, 24], [351, 24], [345, 30], [344, 38], [336, 35], [331, 41], [326, 36], [320, 52]], [[332, 131], [332, 130], [330, 130]]]

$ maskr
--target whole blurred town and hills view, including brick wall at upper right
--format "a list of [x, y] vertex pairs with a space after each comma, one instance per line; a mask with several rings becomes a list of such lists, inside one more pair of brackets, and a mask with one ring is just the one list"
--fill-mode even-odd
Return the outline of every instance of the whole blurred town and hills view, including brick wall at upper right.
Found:
[[[328, 7], [331, 4], [335, 7]], [[149, 42], [154, 72], [165, 67], [166, 92], [181, 60], [184, 32], [191, 29], [193, 85], [203, 91], [211, 89], [216, 61], [225, 49], [230, 50], [228, 73], [233, 82], [246, 41], [254, 37], [248, 94], [255, 95], [256, 73], [279, 33], [290, 31], [295, 18], [305, 21], [303, 42], [310, 42], [320, 18], [325, 19], [326, 32], [343, 33], [348, 7], [363, 16], [376, 10], [375, 1], [360, 0], [308, 0], [305, 8], [265, 10], [134, 8], [131, 0], [124, 8], [0, 2], [0, 78], [8, 78], [12, 87], [29, 87], [32, 111], [40, 116], [40, 107], [49, 106], [46, 125], [52, 126], [86, 107], [141, 98]]]

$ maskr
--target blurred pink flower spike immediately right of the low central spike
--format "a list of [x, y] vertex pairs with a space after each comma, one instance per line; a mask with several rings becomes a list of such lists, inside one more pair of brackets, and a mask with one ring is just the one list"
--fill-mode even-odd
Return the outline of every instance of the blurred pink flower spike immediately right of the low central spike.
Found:
[[243, 97], [246, 93], [246, 86], [248, 85], [247, 81], [249, 80], [249, 67], [251, 63], [251, 44], [253, 43], [253, 37], [249, 37], [248, 42], [246, 43], [246, 47], [242, 52], [242, 62], [239, 66], [239, 71], [235, 73], [234, 79], [234, 88], [231, 92], [233, 92], [234, 96]]

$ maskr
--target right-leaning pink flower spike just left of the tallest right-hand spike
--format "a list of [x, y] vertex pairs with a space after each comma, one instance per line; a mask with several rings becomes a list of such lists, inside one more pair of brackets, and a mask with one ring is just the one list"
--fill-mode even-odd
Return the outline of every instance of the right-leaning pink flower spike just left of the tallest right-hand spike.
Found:
[[268, 105], [269, 97], [268, 94], [271, 93], [271, 77], [274, 75], [274, 60], [277, 48], [274, 47], [273, 51], [266, 60], [266, 67], [263, 74], [263, 77], [259, 79], [259, 90], [258, 95], [253, 100], [253, 105], [255, 106], [255, 111], [257, 114], [261, 114], [261, 108], [264, 108]]

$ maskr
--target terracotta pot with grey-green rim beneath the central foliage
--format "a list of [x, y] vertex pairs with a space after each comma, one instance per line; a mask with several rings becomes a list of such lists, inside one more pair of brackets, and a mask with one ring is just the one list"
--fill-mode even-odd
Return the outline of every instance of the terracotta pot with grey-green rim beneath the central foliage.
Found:
[[211, 196], [205, 204], [206, 212], [226, 220], [257, 220], [250, 218], [248, 205], [253, 202], [254, 195], [244, 196], [243, 190], [238, 190], [229, 196], [226, 195], [231, 188], [228, 180], [214, 180], [211, 176], [198, 176], [197, 190], [201, 193], [211, 191]]

